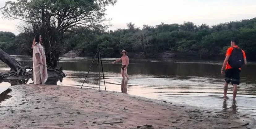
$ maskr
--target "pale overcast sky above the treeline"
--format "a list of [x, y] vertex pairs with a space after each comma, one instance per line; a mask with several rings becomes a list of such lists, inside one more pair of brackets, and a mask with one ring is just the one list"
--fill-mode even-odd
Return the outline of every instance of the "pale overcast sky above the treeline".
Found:
[[[0, 0], [4, 6], [8, 0]], [[161, 22], [182, 24], [191, 21], [199, 25], [225, 23], [256, 17], [256, 0], [118, 0], [115, 6], [107, 7], [107, 18], [112, 18], [111, 30], [126, 28], [126, 23], [155, 26]], [[2, 19], [0, 31], [18, 34], [19, 20]]]

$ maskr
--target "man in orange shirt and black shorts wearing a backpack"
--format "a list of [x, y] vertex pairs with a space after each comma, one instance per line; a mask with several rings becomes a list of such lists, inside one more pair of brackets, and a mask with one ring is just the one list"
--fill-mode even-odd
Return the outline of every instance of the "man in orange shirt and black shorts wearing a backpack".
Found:
[[245, 52], [237, 46], [238, 44], [238, 38], [235, 37], [231, 40], [231, 47], [226, 52], [226, 58], [221, 69], [221, 74], [224, 74], [225, 68], [224, 98], [227, 98], [228, 83], [231, 81], [233, 85], [233, 100], [237, 96], [237, 85], [240, 83], [241, 67], [247, 64]]

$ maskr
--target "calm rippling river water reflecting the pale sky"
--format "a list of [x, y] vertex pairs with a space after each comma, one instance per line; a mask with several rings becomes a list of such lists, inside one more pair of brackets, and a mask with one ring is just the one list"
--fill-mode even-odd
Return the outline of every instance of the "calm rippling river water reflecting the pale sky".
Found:
[[[32, 66], [31, 57], [14, 57]], [[92, 60], [92, 58], [62, 58], [59, 66], [63, 67], [67, 76], [62, 82], [58, 81], [57, 85], [81, 87]], [[228, 87], [230, 99], [224, 101], [222, 99], [224, 75], [220, 74], [223, 61], [130, 59], [128, 67], [130, 80], [122, 81], [121, 62], [111, 64], [114, 60], [116, 59], [102, 59], [107, 90], [256, 116], [255, 63], [248, 63], [242, 68], [241, 84], [238, 86], [236, 101], [232, 100], [232, 85]], [[95, 62], [97, 63], [97, 60]], [[0, 62], [0, 69], [9, 68]], [[31, 82], [31, 80], [28, 81], [28, 83]], [[9, 85], [11, 84], [2, 82], [0, 87]], [[105, 90], [102, 74], [100, 85], [101, 89]], [[96, 64], [92, 66], [83, 88], [99, 89], [99, 67]]]

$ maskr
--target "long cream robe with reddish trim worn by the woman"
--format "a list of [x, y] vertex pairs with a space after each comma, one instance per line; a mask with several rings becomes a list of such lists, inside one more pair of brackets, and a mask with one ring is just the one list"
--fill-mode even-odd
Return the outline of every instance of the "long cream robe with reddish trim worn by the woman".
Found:
[[[39, 55], [41, 55], [40, 58], [43, 65], [39, 64], [39, 62], [36, 60], [36, 53], [39, 53]], [[47, 64], [46, 64], [44, 47], [40, 43], [34, 45], [34, 48], [33, 48], [34, 84], [45, 84], [48, 78], [46, 66]]]

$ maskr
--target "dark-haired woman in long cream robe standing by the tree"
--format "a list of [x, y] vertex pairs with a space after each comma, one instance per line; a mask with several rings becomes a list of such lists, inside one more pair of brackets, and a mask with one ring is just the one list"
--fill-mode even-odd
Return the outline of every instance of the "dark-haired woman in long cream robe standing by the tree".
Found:
[[32, 44], [33, 49], [33, 78], [34, 84], [45, 84], [47, 74], [47, 64], [45, 58], [45, 49], [42, 46], [41, 35], [36, 35]]

